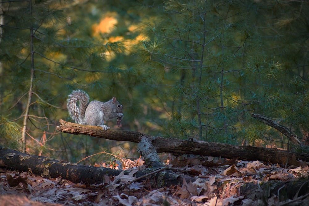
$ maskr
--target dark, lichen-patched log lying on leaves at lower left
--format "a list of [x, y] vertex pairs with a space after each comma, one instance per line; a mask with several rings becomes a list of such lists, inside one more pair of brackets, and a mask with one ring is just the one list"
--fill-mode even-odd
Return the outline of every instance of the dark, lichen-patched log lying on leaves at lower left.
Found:
[[0, 146], [0, 167], [8, 170], [30, 171], [46, 178], [62, 177], [73, 183], [98, 184], [104, 175], [116, 176], [121, 170], [64, 162], [53, 158], [29, 155]]

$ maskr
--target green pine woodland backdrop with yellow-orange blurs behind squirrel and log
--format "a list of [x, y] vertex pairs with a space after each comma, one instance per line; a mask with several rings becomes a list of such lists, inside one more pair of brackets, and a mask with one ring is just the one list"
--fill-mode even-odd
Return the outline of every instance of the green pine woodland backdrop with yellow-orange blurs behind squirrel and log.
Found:
[[[308, 152], [307, 1], [0, 1], [0, 145], [78, 162], [136, 144], [55, 131], [67, 95], [112, 96], [151, 135]], [[81, 163], [108, 160], [94, 155]]]

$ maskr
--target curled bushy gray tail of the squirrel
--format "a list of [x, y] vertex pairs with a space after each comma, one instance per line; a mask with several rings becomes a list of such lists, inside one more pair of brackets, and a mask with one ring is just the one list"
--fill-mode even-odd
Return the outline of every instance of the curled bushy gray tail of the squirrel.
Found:
[[[88, 94], [83, 90], [74, 90], [68, 97], [66, 106], [71, 118], [78, 124], [85, 124], [85, 111], [89, 103]], [[79, 101], [78, 106], [77, 101]]]

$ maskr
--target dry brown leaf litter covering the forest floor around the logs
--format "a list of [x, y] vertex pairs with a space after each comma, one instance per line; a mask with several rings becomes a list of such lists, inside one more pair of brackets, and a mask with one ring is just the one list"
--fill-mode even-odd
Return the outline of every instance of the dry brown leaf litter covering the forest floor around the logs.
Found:
[[[170, 157], [167, 159], [171, 159]], [[134, 174], [144, 169], [142, 160], [123, 159], [114, 162], [96, 164], [99, 167], [129, 170], [115, 177], [105, 179], [105, 183], [88, 185], [72, 183], [61, 177], [43, 178], [29, 172], [18, 172], [0, 168], [0, 203], [2, 206], [30, 205], [304, 205], [309, 202], [308, 195], [292, 198], [280, 198], [269, 194], [266, 199], [258, 198], [256, 191], [251, 195], [242, 195], [244, 184], [260, 185], [270, 181], [294, 181], [304, 179], [308, 183], [308, 166], [285, 169], [280, 165], [271, 165], [259, 161], [221, 160], [220, 158], [202, 159], [186, 156], [165, 160], [166, 166], [179, 168], [181, 172], [192, 175], [196, 181], [183, 185], [157, 187], [154, 180], [146, 178], [135, 182]], [[300, 190], [300, 188], [299, 188]]]

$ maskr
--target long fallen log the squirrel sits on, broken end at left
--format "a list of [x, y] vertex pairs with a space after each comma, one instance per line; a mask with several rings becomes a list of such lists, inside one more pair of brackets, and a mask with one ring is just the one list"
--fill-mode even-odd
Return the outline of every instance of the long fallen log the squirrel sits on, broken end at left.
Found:
[[[60, 120], [61, 125], [57, 131], [70, 134], [83, 134], [92, 137], [105, 138], [116, 141], [139, 142], [139, 138], [146, 136], [152, 139], [152, 145], [157, 152], [173, 153], [176, 156], [182, 154], [196, 154], [203, 156], [240, 158], [242, 160], [259, 160], [272, 164], [285, 164], [289, 160], [290, 165], [304, 166], [309, 161], [309, 156], [300, 153], [292, 153], [279, 149], [270, 149], [252, 146], [228, 145], [216, 142], [205, 142], [195, 139], [180, 140], [175, 138], [152, 137], [140, 132], [108, 129], [101, 127], [74, 124]], [[300, 160], [300, 161], [299, 161]], [[304, 162], [303, 162], [304, 161]]]

